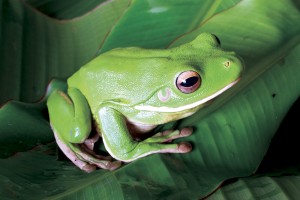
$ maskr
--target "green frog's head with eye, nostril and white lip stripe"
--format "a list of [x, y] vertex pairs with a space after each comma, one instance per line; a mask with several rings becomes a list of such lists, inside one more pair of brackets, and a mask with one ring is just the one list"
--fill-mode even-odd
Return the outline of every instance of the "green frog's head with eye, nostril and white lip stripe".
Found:
[[218, 38], [208, 33], [163, 54], [167, 61], [156, 77], [159, 87], [135, 109], [164, 116], [164, 123], [195, 113], [235, 85], [244, 68], [234, 52], [221, 49]]

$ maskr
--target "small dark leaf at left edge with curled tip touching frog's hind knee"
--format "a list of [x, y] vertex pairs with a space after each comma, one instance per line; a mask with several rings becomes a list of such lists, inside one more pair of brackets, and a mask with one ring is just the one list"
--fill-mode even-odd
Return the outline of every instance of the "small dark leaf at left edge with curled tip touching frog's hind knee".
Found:
[[52, 81], [45, 96], [34, 104], [9, 101], [0, 107], [0, 158], [27, 151], [54, 140], [49, 125], [46, 100], [59, 88], [66, 90], [63, 81]]

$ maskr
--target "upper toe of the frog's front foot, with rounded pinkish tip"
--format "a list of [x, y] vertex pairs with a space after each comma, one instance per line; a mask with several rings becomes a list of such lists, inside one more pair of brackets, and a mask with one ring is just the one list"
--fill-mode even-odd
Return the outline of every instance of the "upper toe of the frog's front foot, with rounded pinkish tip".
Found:
[[146, 143], [166, 143], [172, 142], [172, 140], [188, 137], [192, 134], [192, 128], [183, 128], [181, 130], [166, 130], [163, 132], [158, 132], [152, 137], [144, 140]]

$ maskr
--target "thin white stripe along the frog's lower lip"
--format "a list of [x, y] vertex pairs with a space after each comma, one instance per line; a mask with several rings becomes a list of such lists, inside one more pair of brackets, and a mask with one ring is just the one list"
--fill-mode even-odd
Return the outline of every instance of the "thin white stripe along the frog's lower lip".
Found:
[[170, 107], [166, 107], [166, 106], [161, 106], [161, 107], [155, 107], [155, 106], [147, 106], [147, 105], [136, 105], [134, 108], [140, 111], [151, 111], [151, 112], [166, 112], [166, 113], [176, 113], [176, 112], [182, 112], [185, 110], [189, 110], [192, 108], [195, 108], [201, 104], [204, 104], [206, 102], [208, 102], [209, 100], [215, 98], [216, 96], [222, 94], [223, 92], [225, 92], [226, 90], [228, 90], [229, 88], [231, 88], [233, 85], [235, 85], [240, 79], [237, 79], [233, 82], [231, 82], [230, 84], [228, 84], [227, 86], [225, 86], [224, 88], [222, 88], [221, 90], [217, 91], [216, 93], [201, 99], [200, 101], [196, 101], [194, 103], [188, 104], [188, 105], [184, 105], [184, 106], [180, 106], [177, 108], [170, 108]]

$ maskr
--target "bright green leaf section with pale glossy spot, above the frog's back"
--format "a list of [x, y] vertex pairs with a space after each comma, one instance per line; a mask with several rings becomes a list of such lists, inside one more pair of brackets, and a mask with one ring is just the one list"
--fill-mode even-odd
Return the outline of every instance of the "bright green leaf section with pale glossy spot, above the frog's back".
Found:
[[101, 52], [128, 46], [165, 48], [175, 38], [238, 1], [133, 1], [107, 37]]

